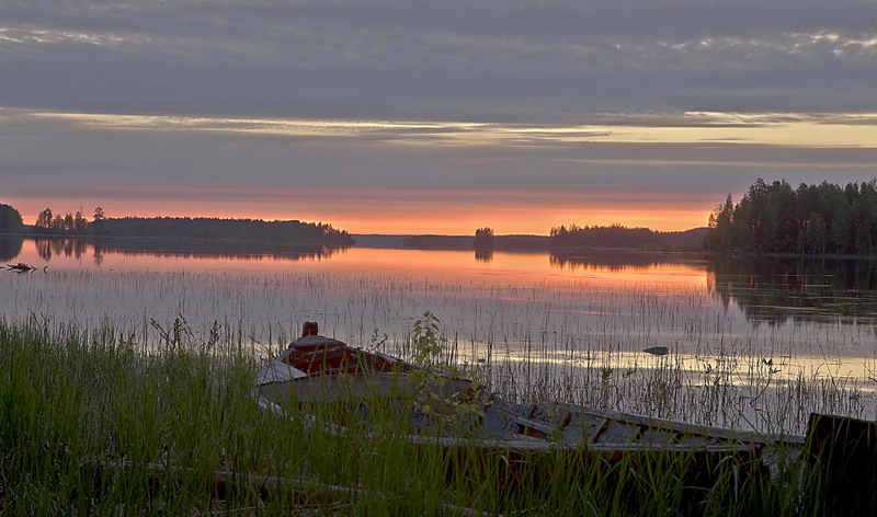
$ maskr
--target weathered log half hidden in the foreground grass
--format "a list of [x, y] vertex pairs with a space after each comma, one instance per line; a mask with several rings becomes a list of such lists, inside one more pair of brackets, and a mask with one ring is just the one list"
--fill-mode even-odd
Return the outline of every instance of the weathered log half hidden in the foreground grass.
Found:
[[[99, 461], [94, 464], [95, 470], [117, 470], [130, 469], [136, 467], [135, 463], [127, 461]], [[192, 475], [197, 472], [193, 468], [184, 467], [169, 467], [162, 463], [145, 463], [138, 466], [144, 468], [146, 472], [155, 478], [159, 475]], [[342, 485], [333, 485], [328, 483], [320, 483], [317, 481], [309, 481], [298, 478], [283, 478], [278, 475], [263, 475], [251, 474], [246, 472], [231, 472], [225, 470], [215, 470], [210, 474], [208, 482], [208, 490], [210, 490], [217, 497], [225, 497], [229, 491], [252, 490], [259, 494], [263, 501], [270, 499], [282, 490], [293, 490], [306, 493], [308, 496], [316, 497], [321, 502], [327, 503], [342, 503], [352, 502], [358, 497], [366, 495], [377, 495], [387, 501], [399, 499], [399, 495], [387, 495], [381, 493], [369, 492], [365, 489], [349, 487]], [[474, 508], [465, 506], [456, 506], [446, 503], [440, 503], [438, 506], [449, 514], [470, 516], [488, 516], [497, 514], [488, 514], [479, 512]], [[501, 517], [501, 516], [500, 516]]]

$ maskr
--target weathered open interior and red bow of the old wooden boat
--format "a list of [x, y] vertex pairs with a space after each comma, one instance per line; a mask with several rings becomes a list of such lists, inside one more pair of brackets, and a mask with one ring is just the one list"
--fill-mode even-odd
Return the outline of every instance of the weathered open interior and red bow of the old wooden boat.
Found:
[[[489, 446], [515, 450], [566, 448], [591, 451], [728, 451], [761, 453], [775, 446], [798, 447], [801, 436], [765, 435], [709, 427], [562, 402], [521, 404], [485, 395], [471, 381], [418, 367], [402, 359], [355, 348], [317, 335], [306, 324], [294, 341], [257, 378], [254, 398], [262, 407], [291, 417], [308, 415], [315, 404], [343, 404], [358, 415], [357, 429], [372, 429], [369, 403], [394, 407], [407, 423], [413, 444]], [[424, 376], [424, 371], [429, 374]], [[441, 376], [426, 386], [424, 377]], [[447, 401], [424, 411], [423, 398]], [[472, 413], [454, 412], [455, 404], [478, 404]], [[354, 405], [351, 407], [351, 405]], [[442, 404], [438, 404], [442, 405]], [[334, 426], [343, 433], [350, 427]]]

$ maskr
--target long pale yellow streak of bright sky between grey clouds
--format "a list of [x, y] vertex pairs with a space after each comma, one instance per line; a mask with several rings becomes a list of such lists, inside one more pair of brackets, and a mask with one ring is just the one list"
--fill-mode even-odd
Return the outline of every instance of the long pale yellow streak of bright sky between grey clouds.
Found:
[[873, 113], [784, 114], [690, 112], [596, 115], [578, 125], [444, 120], [230, 118], [18, 112], [34, 120], [57, 120], [92, 130], [187, 131], [329, 139], [361, 145], [563, 149], [585, 142], [751, 142], [763, 146], [875, 147]]

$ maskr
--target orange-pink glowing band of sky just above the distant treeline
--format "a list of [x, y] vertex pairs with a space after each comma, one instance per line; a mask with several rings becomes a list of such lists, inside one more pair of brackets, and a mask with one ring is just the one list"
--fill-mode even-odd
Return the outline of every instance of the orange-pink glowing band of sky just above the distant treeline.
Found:
[[[551, 227], [577, 223], [688, 230], [705, 226], [717, 196], [684, 200], [633, 193], [526, 193], [403, 191], [383, 194], [344, 192], [247, 192], [239, 196], [216, 192], [172, 189], [162, 196], [144, 189], [144, 197], [83, 196], [77, 206], [69, 198], [19, 199], [16, 208], [33, 223], [44, 208], [61, 214], [82, 210], [87, 218], [101, 206], [107, 217], [221, 217], [299, 219], [330, 222], [351, 233], [471, 234], [488, 226], [497, 234], [548, 234]], [[187, 197], [187, 198], [186, 198]], [[392, 199], [389, 199], [392, 198]], [[522, 199], [526, 203], [522, 203]]]

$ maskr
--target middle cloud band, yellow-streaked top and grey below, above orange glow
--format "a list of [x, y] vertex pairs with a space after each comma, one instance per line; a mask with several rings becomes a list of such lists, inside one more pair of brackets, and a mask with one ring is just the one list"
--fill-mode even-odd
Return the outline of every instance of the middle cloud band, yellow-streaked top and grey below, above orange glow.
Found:
[[[249, 187], [481, 192], [497, 185], [532, 193], [727, 193], [759, 176], [821, 182], [830, 171], [833, 181], [869, 179], [877, 173], [877, 135], [858, 124], [868, 116], [670, 113], [659, 123], [656, 113], [614, 114], [549, 126], [5, 108], [0, 171], [10, 192], [45, 187], [71, 196], [80, 184], [106, 195], [98, 186], [209, 185], [242, 195]], [[808, 143], [817, 137], [818, 145]]]

